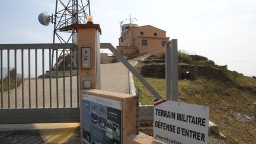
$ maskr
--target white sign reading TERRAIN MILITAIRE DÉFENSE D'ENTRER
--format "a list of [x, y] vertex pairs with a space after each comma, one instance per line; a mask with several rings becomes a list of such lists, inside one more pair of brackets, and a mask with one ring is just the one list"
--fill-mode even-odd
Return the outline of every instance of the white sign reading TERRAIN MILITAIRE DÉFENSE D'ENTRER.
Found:
[[153, 137], [165, 143], [207, 143], [209, 107], [156, 99]]

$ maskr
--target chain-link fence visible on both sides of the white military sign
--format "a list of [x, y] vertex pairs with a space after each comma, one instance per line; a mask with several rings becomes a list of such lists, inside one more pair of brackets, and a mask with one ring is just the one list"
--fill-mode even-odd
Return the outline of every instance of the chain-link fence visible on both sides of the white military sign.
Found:
[[[153, 135], [153, 96], [139, 90], [139, 130]], [[208, 143], [256, 143], [256, 104], [211, 104]]]

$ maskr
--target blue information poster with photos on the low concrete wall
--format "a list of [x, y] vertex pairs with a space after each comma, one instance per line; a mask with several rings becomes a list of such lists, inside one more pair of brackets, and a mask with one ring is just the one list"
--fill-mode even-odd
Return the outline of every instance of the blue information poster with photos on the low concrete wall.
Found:
[[83, 143], [121, 143], [121, 102], [82, 94]]

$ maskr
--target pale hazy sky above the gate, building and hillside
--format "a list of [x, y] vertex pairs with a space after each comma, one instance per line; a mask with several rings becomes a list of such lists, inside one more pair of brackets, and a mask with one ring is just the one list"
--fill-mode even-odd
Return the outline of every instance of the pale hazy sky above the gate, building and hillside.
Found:
[[[65, 1], [65, 0], [63, 0]], [[101, 43], [118, 46], [120, 21], [152, 25], [178, 39], [178, 49], [207, 56], [231, 71], [256, 76], [255, 0], [91, 0]], [[53, 24], [41, 25], [41, 12], [55, 12], [55, 0], [2, 1], [0, 43], [52, 43]], [[125, 21], [124, 23], [129, 23]]]

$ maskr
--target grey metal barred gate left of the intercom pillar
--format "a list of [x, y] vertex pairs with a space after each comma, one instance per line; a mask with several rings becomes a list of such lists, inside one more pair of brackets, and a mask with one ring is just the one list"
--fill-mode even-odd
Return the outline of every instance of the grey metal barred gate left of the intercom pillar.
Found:
[[77, 49], [67, 43], [0, 44], [0, 124], [78, 122]]

